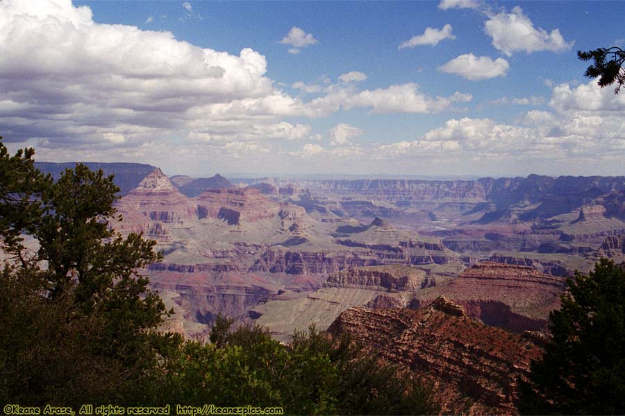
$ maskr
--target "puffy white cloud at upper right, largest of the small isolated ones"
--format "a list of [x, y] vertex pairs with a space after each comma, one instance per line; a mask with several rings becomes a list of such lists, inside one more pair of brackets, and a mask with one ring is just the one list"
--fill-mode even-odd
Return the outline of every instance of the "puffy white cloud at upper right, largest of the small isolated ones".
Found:
[[565, 41], [558, 29], [548, 33], [535, 28], [519, 6], [510, 13], [492, 15], [485, 22], [484, 30], [492, 37], [492, 46], [508, 56], [519, 51], [568, 51], [574, 43]]

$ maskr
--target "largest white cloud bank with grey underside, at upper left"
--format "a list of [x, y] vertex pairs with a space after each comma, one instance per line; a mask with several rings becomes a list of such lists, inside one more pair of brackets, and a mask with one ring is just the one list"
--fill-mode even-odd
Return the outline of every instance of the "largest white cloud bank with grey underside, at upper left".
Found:
[[260, 146], [310, 133], [310, 125], [281, 120], [303, 104], [272, 87], [260, 53], [99, 24], [69, 0], [0, 2], [0, 55], [5, 141], [137, 155], [133, 149], [172, 135]]

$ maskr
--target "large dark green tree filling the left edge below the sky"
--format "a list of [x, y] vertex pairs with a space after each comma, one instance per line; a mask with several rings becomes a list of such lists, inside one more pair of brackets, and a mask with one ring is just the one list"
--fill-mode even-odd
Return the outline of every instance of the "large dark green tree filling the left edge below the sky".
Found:
[[[109, 227], [113, 177], [77, 164], [53, 182], [32, 156], [10, 157], [0, 142], [0, 239], [17, 260], [0, 275], [0, 397], [131, 402], [159, 352], [181, 341], [155, 331], [165, 307], [138, 272], [160, 254], [140, 234]], [[34, 253], [23, 234], [38, 243]]]

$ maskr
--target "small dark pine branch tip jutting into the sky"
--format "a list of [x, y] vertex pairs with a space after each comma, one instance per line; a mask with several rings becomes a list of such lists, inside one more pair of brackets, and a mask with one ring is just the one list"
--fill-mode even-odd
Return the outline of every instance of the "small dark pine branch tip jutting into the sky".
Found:
[[593, 60], [592, 65], [586, 69], [584, 76], [588, 78], [599, 77], [597, 84], [601, 88], [617, 83], [614, 93], [619, 94], [621, 87], [625, 83], [625, 69], [623, 69], [625, 51], [618, 46], [612, 46], [608, 49], [599, 48], [594, 49], [594, 51], [577, 51], [577, 57], [583, 61]]

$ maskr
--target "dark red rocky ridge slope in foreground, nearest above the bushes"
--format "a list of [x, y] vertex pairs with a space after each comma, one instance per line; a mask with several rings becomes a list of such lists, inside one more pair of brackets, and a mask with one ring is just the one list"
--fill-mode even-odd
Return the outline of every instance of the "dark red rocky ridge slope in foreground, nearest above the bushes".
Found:
[[515, 414], [517, 379], [540, 349], [521, 336], [487, 327], [448, 300], [409, 309], [348, 309], [328, 329], [349, 333], [382, 358], [431, 379], [442, 413]]

